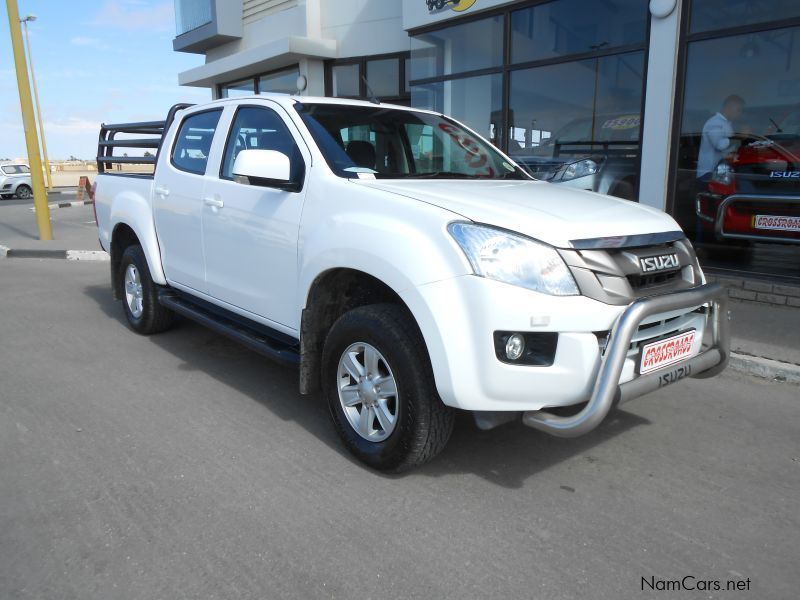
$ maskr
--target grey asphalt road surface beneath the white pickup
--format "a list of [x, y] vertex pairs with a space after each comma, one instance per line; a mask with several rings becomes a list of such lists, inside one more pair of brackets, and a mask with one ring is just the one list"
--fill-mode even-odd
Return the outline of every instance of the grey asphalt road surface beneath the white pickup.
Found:
[[[578, 440], [463, 415], [383, 476], [291, 369], [133, 334], [107, 270], [0, 261], [3, 599], [798, 597], [797, 387], [682, 382]], [[685, 576], [750, 591], [642, 591]]]

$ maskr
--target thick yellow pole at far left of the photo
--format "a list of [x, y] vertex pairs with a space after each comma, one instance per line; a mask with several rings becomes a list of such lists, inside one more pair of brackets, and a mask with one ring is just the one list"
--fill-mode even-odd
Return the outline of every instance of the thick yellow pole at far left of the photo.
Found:
[[47, 206], [47, 191], [42, 177], [42, 157], [39, 154], [39, 140], [36, 136], [36, 123], [33, 119], [31, 86], [28, 81], [28, 67], [25, 64], [25, 51], [22, 49], [22, 33], [19, 26], [17, 0], [6, 0], [8, 25], [11, 29], [11, 48], [14, 51], [14, 66], [17, 70], [19, 104], [22, 109], [22, 128], [25, 130], [25, 145], [28, 148], [28, 162], [31, 167], [33, 183], [33, 206], [36, 209], [36, 223], [39, 225], [39, 239], [53, 239], [53, 225], [50, 223], [50, 207]]

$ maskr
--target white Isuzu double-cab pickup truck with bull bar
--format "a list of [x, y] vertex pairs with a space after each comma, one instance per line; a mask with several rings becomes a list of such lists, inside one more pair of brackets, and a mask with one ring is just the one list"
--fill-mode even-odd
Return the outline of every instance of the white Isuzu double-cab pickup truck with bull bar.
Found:
[[[431, 459], [456, 409], [574, 437], [728, 360], [725, 294], [671, 217], [536, 181], [442, 114], [287, 95], [178, 105], [103, 125], [97, 160], [131, 328], [179, 314], [299, 365], [300, 391], [322, 393], [376, 469]], [[154, 171], [115, 170], [130, 162]]]

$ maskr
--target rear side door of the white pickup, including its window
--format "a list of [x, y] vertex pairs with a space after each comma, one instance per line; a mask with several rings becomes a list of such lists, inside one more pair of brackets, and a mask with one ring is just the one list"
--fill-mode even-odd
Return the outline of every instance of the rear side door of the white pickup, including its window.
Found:
[[206, 292], [202, 216], [205, 173], [222, 108], [183, 118], [168, 156], [159, 161], [153, 211], [167, 281]]

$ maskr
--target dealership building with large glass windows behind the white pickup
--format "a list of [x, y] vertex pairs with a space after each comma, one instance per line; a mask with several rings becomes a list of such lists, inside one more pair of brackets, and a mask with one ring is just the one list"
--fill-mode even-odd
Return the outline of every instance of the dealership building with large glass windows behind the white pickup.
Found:
[[[179, 74], [442, 111], [536, 177], [671, 213], [800, 284], [798, 0], [175, 0]], [[786, 299], [787, 303], [789, 299]]]

